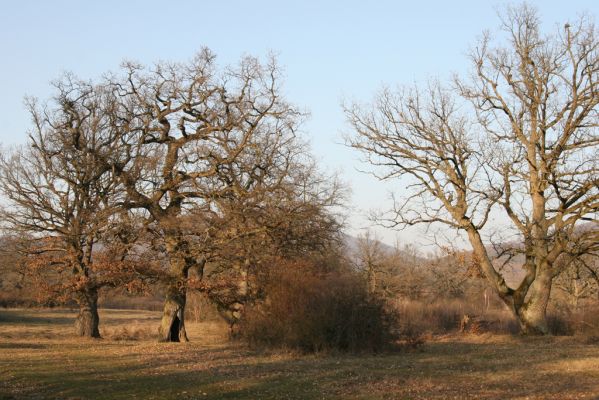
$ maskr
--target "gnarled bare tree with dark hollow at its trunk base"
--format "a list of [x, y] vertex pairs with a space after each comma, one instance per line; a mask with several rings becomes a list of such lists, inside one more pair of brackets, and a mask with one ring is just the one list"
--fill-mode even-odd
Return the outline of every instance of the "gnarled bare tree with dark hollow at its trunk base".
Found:
[[[278, 149], [293, 143], [302, 114], [282, 98], [274, 60], [246, 57], [219, 72], [203, 50], [187, 64], [126, 64], [108, 84], [120, 99], [111, 114], [122, 152], [106, 165], [125, 187], [124, 206], [145, 212], [168, 255], [160, 338], [186, 341], [186, 281], [191, 270], [203, 275], [211, 221], [226, 199], [276, 183]], [[184, 225], [191, 212], [202, 216], [194, 232]]]

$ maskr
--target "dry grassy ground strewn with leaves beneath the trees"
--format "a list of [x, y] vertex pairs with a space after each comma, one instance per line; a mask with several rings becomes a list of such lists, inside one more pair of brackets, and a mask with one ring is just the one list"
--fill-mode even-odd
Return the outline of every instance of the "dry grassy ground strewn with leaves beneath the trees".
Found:
[[0, 310], [2, 399], [599, 399], [599, 344], [447, 336], [380, 355], [251, 351], [217, 323], [156, 343], [160, 313], [101, 311], [104, 339], [70, 310]]

